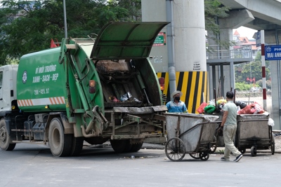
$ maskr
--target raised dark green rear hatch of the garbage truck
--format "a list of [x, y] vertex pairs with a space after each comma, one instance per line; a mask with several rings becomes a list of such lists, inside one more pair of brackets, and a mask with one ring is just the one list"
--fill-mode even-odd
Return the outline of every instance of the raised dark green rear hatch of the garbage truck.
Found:
[[98, 34], [92, 60], [144, 59], [169, 22], [110, 22]]

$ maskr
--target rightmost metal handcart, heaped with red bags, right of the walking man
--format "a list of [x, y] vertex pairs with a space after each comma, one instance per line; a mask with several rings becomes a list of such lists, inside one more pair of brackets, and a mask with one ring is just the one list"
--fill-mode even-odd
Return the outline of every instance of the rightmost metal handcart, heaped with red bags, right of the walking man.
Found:
[[274, 155], [275, 139], [268, 118], [269, 113], [237, 115], [235, 146], [241, 153], [251, 148], [251, 155], [256, 156], [258, 149], [271, 149]]

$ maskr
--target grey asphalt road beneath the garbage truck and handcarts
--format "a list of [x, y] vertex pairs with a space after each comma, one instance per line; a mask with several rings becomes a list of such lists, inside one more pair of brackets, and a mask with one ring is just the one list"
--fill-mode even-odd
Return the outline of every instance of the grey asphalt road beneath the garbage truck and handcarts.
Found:
[[54, 158], [47, 146], [17, 144], [0, 151], [0, 186], [280, 186], [278, 153], [248, 151], [240, 162], [223, 162], [218, 153], [207, 161], [185, 155], [172, 162], [163, 146], [143, 148], [116, 154], [109, 146], [85, 146], [78, 157]]

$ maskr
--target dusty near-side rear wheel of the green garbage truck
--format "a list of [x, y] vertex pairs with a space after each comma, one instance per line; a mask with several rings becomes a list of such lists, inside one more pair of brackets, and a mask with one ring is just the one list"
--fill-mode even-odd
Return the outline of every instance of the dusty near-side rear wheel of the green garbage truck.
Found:
[[48, 130], [48, 144], [54, 156], [63, 157], [72, 151], [73, 134], [65, 134], [60, 118], [53, 118]]

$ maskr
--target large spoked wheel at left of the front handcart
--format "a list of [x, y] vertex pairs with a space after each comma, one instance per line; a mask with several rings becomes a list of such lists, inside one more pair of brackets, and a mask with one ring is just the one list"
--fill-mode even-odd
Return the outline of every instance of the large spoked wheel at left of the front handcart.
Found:
[[185, 156], [185, 145], [183, 141], [179, 138], [169, 139], [165, 145], [165, 153], [171, 161], [183, 160]]

